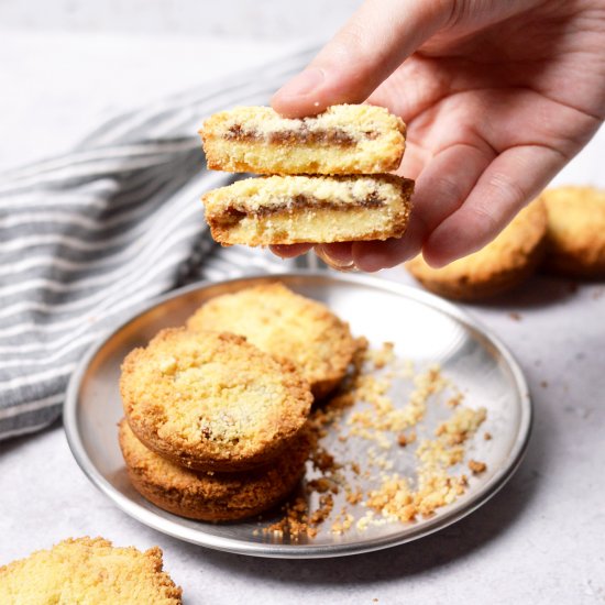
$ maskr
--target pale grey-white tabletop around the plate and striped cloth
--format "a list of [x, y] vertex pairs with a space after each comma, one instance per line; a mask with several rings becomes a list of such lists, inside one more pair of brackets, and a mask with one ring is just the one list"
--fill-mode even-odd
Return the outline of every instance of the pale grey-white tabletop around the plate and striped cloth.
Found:
[[[244, 59], [262, 61], [279, 46], [3, 34], [9, 94], [0, 96], [0, 168], [67, 148], [112, 108], [186, 88], [191, 78]], [[602, 130], [558, 182], [605, 186], [604, 156]], [[403, 270], [386, 276], [413, 283]], [[605, 603], [604, 288], [572, 292], [564, 280], [535, 278], [470, 310], [519, 360], [536, 425], [518, 473], [465, 520], [411, 544], [340, 560], [274, 561], [200, 549], [114, 507], [81, 473], [57, 427], [0, 446], [0, 564], [68, 536], [101, 535], [118, 544], [160, 544], [189, 605]]]

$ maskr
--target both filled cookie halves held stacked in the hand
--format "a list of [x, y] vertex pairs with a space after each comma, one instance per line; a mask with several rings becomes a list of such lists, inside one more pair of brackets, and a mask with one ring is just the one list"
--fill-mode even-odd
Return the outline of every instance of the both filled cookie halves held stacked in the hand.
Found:
[[251, 246], [400, 238], [414, 182], [386, 173], [399, 166], [405, 132], [365, 105], [302, 119], [267, 107], [212, 116], [200, 131], [209, 168], [273, 175], [204, 196], [212, 237]]

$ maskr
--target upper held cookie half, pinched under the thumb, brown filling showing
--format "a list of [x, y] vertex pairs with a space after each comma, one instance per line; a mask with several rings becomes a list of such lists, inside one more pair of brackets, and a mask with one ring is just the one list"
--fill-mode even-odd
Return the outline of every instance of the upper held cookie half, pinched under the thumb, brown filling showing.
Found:
[[406, 127], [383, 107], [341, 105], [282, 118], [270, 107], [216, 113], [200, 135], [208, 167], [258, 174], [378, 174], [395, 170]]

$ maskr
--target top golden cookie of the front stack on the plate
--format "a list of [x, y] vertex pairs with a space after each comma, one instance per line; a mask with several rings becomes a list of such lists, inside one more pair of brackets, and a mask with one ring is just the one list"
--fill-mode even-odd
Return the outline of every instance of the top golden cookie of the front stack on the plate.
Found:
[[147, 448], [204, 471], [242, 471], [280, 454], [306, 422], [309, 384], [244, 338], [162, 330], [122, 364], [130, 426]]

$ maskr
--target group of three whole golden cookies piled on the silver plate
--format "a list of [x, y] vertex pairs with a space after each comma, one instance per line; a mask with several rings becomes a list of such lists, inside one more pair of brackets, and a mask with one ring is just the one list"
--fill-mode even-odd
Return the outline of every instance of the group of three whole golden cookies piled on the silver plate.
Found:
[[271, 508], [305, 472], [314, 395], [339, 384], [354, 351], [346, 323], [280, 284], [210, 300], [124, 360], [120, 446], [132, 484], [194, 519]]

